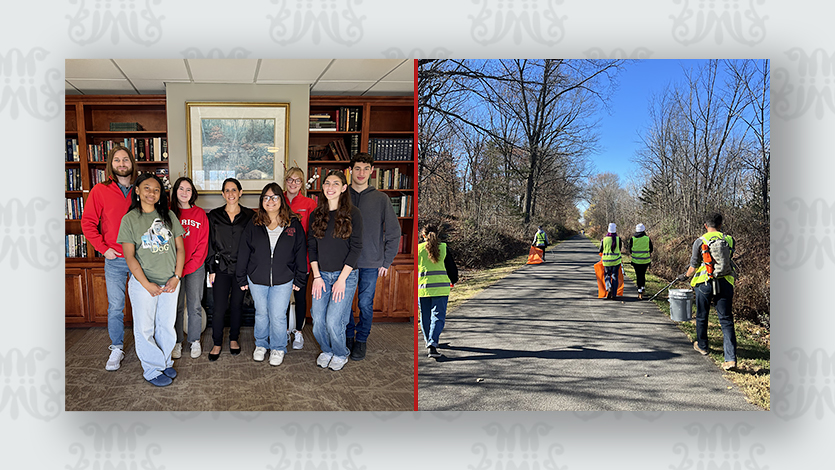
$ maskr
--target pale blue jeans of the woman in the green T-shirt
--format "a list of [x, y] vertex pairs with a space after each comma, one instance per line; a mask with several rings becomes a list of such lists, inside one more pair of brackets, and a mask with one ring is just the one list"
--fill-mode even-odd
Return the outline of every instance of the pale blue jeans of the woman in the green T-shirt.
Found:
[[177, 290], [156, 297], [142, 287], [133, 276], [128, 281], [131, 306], [133, 307], [133, 341], [136, 356], [142, 363], [142, 376], [153, 380], [162, 371], [174, 366], [171, 350], [177, 342], [174, 333], [174, 317], [177, 315]]

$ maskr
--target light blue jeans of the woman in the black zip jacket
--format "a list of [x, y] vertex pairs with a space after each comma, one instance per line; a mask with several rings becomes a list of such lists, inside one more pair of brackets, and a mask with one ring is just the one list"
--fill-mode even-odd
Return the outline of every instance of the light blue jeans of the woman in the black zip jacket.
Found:
[[255, 302], [255, 347], [287, 352], [287, 306], [293, 295], [293, 281], [265, 286], [247, 277], [247, 282]]

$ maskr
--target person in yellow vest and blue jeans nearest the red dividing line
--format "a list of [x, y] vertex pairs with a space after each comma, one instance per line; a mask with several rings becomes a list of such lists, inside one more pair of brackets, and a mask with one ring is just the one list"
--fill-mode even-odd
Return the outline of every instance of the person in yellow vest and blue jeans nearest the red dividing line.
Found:
[[438, 228], [427, 225], [418, 245], [418, 307], [420, 331], [427, 356], [441, 357], [438, 341], [446, 322], [446, 307], [451, 284], [458, 282], [458, 268], [446, 243], [438, 239]]

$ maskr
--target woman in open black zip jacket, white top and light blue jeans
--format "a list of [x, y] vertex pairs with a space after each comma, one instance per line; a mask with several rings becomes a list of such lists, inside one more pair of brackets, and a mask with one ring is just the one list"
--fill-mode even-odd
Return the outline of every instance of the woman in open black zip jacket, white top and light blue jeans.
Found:
[[255, 303], [252, 359], [263, 361], [269, 349], [270, 365], [278, 366], [287, 353], [290, 296], [307, 286], [307, 246], [299, 216], [290, 210], [278, 183], [264, 186], [258, 206], [241, 236], [236, 276]]

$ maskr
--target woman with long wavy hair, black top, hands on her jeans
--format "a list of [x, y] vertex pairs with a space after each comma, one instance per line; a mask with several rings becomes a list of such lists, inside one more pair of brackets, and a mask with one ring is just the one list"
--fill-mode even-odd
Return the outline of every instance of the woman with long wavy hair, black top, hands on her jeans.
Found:
[[322, 182], [323, 197], [310, 216], [307, 235], [313, 272], [313, 336], [322, 348], [319, 367], [340, 370], [348, 362], [345, 325], [357, 289], [362, 250], [362, 216], [346, 192], [345, 174], [332, 170]]

